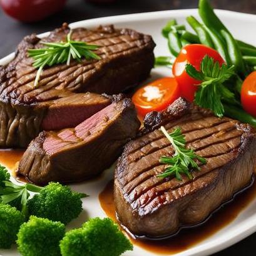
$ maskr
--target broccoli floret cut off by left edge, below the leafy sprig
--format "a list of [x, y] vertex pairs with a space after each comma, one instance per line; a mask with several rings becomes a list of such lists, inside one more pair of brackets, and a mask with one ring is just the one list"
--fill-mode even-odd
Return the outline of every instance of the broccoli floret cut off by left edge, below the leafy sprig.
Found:
[[0, 203], [0, 248], [11, 247], [24, 221], [24, 215], [15, 207]]

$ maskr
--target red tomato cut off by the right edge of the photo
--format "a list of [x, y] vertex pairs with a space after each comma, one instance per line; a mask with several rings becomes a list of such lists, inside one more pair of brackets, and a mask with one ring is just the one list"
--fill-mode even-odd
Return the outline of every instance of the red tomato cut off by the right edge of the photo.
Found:
[[245, 111], [256, 116], [256, 71], [250, 73], [243, 81], [241, 103]]

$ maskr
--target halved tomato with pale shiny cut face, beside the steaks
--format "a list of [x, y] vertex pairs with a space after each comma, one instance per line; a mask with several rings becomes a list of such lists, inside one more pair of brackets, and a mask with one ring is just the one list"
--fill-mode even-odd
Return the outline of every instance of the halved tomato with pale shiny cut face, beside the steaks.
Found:
[[164, 110], [180, 97], [180, 90], [175, 78], [161, 78], [141, 87], [132, 100], [138, 114], [145, 116], [150, 111]]

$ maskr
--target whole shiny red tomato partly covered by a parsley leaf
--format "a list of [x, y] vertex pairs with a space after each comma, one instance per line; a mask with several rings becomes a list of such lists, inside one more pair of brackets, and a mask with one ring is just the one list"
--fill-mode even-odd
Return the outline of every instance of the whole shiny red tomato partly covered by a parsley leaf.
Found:
[[200, 84], [200, 81], [193, 79], [187, 74], [185, 70], [186, 64], [192, 64], [199, 71], [200, 63], [205, 55], [212, 57], [220, 65], [225, 62], [215, 49], [203, 44], [189, 44], [182, 48], [173, 64], [173, 75], [177, 79], [182, 95], [188, 101], [194, 100], [195, 92], [197, 91], [196, 84]]

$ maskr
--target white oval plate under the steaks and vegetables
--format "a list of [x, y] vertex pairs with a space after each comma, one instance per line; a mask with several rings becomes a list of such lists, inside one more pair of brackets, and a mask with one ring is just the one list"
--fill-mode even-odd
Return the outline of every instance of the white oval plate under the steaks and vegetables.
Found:
[[[255, 28], [256, 16], [252, 14], [234, 13], [231, 11], [217, 10], [218, 16], [222, 19], [223, 23], [232, 32], [233, 36], [247, 43], [256, 45]], [[185, 18], [188, 15], [198, 17], [197, 9], [177, 10], [177, 11], [160, 11], [154, 13], [143, 14], [129, 14], [124, 16], [113, 16], [107, 18], [91, 19], [88, 21], [79, 21], [70, 24], [71, 28], [86, 27], [91, 28], [99, 24], [115, 24], [119, 28], [133, 28], [142, 33], [151, 34], [156, 42], [155, 55], [168, 54], [166, 40], [161, 36], [161, 28], [166, 24], [169, 19], [177, 19], [178, 23], [185, 23]], [[45, 36], [47, 33], [41, 34]], [[9, 54], [6, 58], [0, 60], [0, 64], [8, 63], [14, 57]], [[158, 68], [153, 69], [150, 79], [155, 79], [158, 76], [170, 75], [168, 69]], [[111, 145], [110, 145], [111, 146]], [[84, 212], [81, 213], [78, 219], [74, 220], [68, 225], [68, 228], [79, 227], [81, 223], [86, 221], [88, 217], [105, 217], [105, 213], [100, 207], [98, 195], [105, 187], [106, 183], [113, 178], [113, 168], [107, 170], [100, 179], [92, 182], [84, 182], [71, 187], [79, 192], [85, 192], [90, 197], [83, 200]], [[227, 206], [228, 207], [228, 206]], [[207, 224], [206, 224], [207, 225]], [[242, 240], [248, 235], [256, 232], [256, 198], [248, 205], [232, 223], [219, 230], [211, 237], [207, 237], [197, 245], [177, 253], [177, 256], [192, 256], [192, 255], [209, 255], [218, 252], [224, 248], [233, 245], [234, 243]], [[18, 255], [16, 249], [0, 250], [0, 255], [14, 256]], [[135, 247], [133, 252], [124, 253], [123, 256], [154, 256], [155, 253], [143, 250], [140, 247]]]

